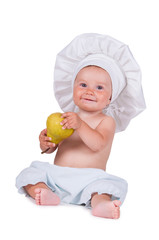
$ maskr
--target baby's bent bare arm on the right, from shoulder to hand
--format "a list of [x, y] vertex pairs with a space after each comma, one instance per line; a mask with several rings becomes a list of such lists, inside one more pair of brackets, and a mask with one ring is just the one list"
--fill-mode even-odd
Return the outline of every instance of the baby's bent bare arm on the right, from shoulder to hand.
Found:
[[64, 128], [74, 128], [82, 141], [93, 151], [100, 151], [112, 142], [115, 133], [115, 121], [112, 117], [105, 117], [92, 129], [87, 123], [80, 119], [76, 113], [64, 113], [62, 121]]

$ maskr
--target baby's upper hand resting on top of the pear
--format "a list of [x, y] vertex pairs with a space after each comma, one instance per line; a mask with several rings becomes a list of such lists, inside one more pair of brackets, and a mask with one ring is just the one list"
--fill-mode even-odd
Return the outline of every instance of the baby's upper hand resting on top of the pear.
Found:
[[80, 128], [82, 124], [81, 118], [74, 112], [63, 113], [62, 118], [65, 118], [60, 124], [63, 125], [62, 129], [77, 129]]

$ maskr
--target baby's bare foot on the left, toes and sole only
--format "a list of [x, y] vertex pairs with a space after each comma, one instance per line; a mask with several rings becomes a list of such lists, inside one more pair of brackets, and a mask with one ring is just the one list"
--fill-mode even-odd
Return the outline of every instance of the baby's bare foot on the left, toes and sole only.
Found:
[[35, 194], [37, 205], [58, 205], [60, 203], [60, 198], [49, 189], [36, 188]]

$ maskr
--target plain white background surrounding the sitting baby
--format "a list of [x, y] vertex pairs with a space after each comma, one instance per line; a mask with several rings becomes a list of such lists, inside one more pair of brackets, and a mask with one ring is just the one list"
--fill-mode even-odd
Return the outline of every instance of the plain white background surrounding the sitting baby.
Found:
[[[159, 239], [158, 1], [0, 1], [1, 239]], [[38, 136], [49, 114], [56, 54], [76, 35], [96, 32], [129, 45], [142, 69], [147, 109], [116, 134], [107, 171], [129, 191], [119, 220], [79, 206], [36, 206], [17, 193], [15, 178], [41, 155]]]

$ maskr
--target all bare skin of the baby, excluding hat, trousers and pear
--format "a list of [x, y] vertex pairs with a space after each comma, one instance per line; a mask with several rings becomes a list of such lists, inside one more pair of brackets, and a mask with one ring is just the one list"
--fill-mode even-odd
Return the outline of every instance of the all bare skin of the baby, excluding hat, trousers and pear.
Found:
[[[105, 170], [115, 133], [115, 121], [105, 116], [102, 110], [110, 103], [112, 95], [111, 79], [102, 68], [85, 67], [78, 73], [73, 99], [79, 107], [78, 113], [64, 113], [61, 122], [63, 129], [73, 128], [76, 131], [61, 142], [54, 164], [72, 168], [99, 168]], [[41, 149], [50, 147], [49, 153], [57, 145], [50, 143], [46, 130], [40, 134]], [[24, 187], [37, 204], [56, 205], [59, 197], [45, 184], [27, 185]], [[109, 194], [93, 193], [91, 206], [93, 215], [107, 218], [119, 218], [119, 200], [111, 201]]]

